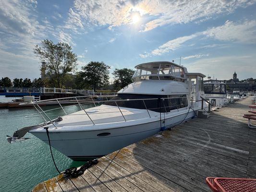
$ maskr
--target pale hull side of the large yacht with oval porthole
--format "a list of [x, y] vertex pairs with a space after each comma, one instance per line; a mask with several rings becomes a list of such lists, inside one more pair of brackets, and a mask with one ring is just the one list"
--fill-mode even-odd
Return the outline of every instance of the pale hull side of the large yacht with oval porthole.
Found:
[[[52, 131], [49, 132], [50, 144], [74, 161], [86, 161], [108, 155], [125, 146], [155, 135], [165, 128], [173, 127], [191, 119], [195, 117], [195, 112], [190, 109], [189, 112], [185, 110], [176, 116], [171, 117], [169, 115], [169, 118], [168, 114], [165, 116], [166, 119], [162, 114], [161, 122], [160, 120], [152, 121], [151, 119], [153, 118], [148, 118], [145, 123], [119, 128], [75, 132]], [[122, 124], [125, 123], [129, 124], [129, 122], [123, 122]], [[31, 133], [49, 144], [46, 132], [31, 131]]]

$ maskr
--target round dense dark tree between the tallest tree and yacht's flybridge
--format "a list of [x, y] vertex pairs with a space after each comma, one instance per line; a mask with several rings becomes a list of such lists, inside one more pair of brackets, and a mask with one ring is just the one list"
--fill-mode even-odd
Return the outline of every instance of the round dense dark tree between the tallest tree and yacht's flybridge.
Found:
[[85, 79], [85, 83], [92, 85], [94, 91], [96, 88], [109, 84], [110, 66], [104, 62], [91, 61], [81, 69], [80, 74]]

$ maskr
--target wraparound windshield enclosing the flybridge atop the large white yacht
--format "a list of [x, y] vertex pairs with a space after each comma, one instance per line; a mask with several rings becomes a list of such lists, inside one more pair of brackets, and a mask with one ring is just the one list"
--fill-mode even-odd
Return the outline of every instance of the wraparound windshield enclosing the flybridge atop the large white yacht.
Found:
[[137, 67], [133, 80], [175, 80], [184, 82], [184, 71], [182, 67], [171, 63], [146, 63]]

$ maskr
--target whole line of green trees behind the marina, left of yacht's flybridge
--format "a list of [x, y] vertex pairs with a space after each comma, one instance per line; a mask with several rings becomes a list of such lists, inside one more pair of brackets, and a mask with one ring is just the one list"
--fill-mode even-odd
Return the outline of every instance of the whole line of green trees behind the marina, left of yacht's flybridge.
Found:
[[[13, 81], [9, 77], [2, 77], [0, 86], [4, 87], [56, 87], [73, 89], [107, 88], [116, 91], [132, 83], [134, 70], [115, 69], [112, 73], [114, 82], [110, 87], [110, 66], [104, 62], [90, 61], [77, 72], [77, 55], [67, 43], [54, 44], [51, 40], [43, 40], [34, 48], [34, 54], [42, 63], [41, 78], [31, 81], [29, 78]], [[73, 74], [75, 73], [75, 74]]]

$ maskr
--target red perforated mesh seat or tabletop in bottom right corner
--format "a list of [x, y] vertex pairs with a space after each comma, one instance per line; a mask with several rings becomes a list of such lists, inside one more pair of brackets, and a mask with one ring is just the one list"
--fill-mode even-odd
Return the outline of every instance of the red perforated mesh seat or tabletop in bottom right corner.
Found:
[[218, 192], [256, 192], [256, 179], [215, 178]]

